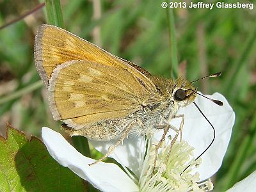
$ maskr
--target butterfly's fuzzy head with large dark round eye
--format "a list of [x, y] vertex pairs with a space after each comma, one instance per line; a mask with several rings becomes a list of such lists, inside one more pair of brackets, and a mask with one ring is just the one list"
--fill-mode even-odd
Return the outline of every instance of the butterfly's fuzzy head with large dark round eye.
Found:
[[188, 106], [196, 98], [196, 88], [183, 77], [179, 77], [175, 82], [172, 97], [177, 105], [182, 108]]

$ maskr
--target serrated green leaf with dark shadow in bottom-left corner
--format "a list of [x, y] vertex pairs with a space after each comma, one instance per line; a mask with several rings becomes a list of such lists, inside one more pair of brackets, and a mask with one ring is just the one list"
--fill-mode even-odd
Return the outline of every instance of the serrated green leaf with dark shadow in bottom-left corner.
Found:
[[83, 180], [58, 164], [35, 136], [7, 127], [0, 136], [0, 191], [84, 191]]

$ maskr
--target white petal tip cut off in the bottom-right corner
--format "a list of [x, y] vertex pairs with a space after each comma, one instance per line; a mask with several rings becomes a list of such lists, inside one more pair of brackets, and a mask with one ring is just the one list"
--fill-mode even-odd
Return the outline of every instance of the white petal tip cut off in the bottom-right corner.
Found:
[[237, 182], [232, 188], [228, 189], [226, 192], [251, 192], [255, 191], [256, 188], [256, 171], [251, 173], [245, 179]]

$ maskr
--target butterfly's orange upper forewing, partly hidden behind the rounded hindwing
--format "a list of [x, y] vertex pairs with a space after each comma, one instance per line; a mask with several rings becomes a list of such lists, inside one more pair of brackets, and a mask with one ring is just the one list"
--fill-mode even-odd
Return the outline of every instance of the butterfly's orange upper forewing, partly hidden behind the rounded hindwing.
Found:
[[154, 84], [139, 70], [125, 63], [113, 54], [56, 26], [42, 25], [35, 38], [36, 68], [47, 86], [52, 71], [61, 63], [71, 60], [88, 60], [103, 65], [122, 68], [133, 74], [149, 90], [156, 90]]

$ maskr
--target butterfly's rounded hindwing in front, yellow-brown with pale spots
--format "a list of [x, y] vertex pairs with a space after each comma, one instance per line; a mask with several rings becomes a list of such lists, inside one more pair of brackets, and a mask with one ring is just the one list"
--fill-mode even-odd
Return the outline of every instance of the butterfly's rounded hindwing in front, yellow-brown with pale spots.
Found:
[[55, 120], [71, 120], [69, 125], [74, 128], [128, 116], [141, 109], [148, 98], [156, 97], [154, 90], [143, 84], [122, 68], [86, 60], [68, 61], [52, 72], [52, 115]]

